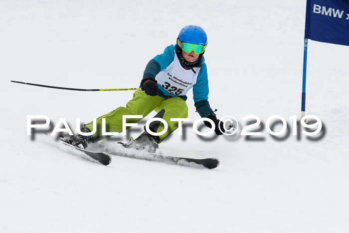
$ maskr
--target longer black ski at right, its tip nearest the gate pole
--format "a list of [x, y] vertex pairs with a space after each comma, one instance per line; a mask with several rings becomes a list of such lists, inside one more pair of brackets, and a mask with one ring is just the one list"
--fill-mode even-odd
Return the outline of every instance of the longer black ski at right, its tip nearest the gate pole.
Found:
[[165, 162], [169, 164], [183, 165], [183, 166], [188, 166], [188, 165], [190, 166], [192, 164], [202, 165], [203, 167], [208, 169], [214, 169], [219, 165], [219, 160], [216, 158], [191, 159], [191, 158], [183, 158], [183, 157], [166, 156], [163, 154], [150, 153], [150, 152], [146, 152], [145, 154], [142, 154], [142, 152], [141, 154], [132, 153], [132, 152], [112, 152], [111, 155], [134, 158], [134, 159]]

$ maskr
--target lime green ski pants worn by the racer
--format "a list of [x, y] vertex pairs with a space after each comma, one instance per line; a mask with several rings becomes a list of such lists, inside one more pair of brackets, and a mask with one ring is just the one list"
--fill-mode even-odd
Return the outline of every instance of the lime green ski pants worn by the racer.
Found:
[[[160, 142], [178, 128], [178, 121], [170, 121], [170, 118], [187, 118], [188, 107], [185, 101], [180, 97], [172, 97], [169, 99], [161, 96], [150, 96], [144, 91], [135, 91], [133, 99], [130, 100], [126, 107], [119, 107], [103, 116], [97, 118], [96, 126], [93, 121], [85, 126], [93, 131], [97, 127], [94, 136], [102, 136], [102, 119], [105, 119], [107, 132], [121, 133], [123, 130], [123, 115], [142, 115], [143, 118], [155, 110], [158, 114], [155, 117], [164, 119], [168, 124], [168, 130], [159, 135]], [[127, 123], [137, 123], [143, 118], [128, 118]], [[127, 127], [127, 129], [130, 127]], [[153, 121], [150, 128], [154, 132], [162, 132], [165, 126], [160, 121]]]

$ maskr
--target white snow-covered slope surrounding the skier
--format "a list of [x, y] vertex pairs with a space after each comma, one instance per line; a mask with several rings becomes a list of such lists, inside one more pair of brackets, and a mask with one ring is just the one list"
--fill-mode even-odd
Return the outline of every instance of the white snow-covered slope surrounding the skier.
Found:
[[[349, 47], [309, 41], [307, 114], [324, 130], [317, 140], [292, 135], [305, 8], [305, 0], [0, 0], [0, 232], [348, 233]], [[264, 140], [202, 140], [187, 127], [185, 137], [175, 132], [161, 144], [168, 155], [217, 157], [219, 167], [208, 170], [117, 156], [105, 167], [43, 134], [26, 135], [27, 115], [47, 115], [52, 125], [65, 118], [75, 128], [76, 118], [124, 106], [133, 92], [10, 80], [138, 87], [148, 61], [187, 24], [207, 32], [218, 117], [232, 115], [243, 127], [246, 115], [264, 124], [281, 115], [289, 136], [275, 140], [263, 127]], [[191, 93], [187, 105], [193, 122]]]

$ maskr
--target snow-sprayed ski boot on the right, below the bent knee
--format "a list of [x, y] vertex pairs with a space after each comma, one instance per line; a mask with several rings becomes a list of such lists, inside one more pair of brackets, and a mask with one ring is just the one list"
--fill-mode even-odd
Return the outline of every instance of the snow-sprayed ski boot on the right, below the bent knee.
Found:
[[159, 136], [153, 136], [145, 131], [135, 140], [131, 137], [128, 143], [118, 143], [125, 148], [133, 148], [140, 151], [146, 150], [149, 153], [154, 153], [159, 148], [159, 142]]

